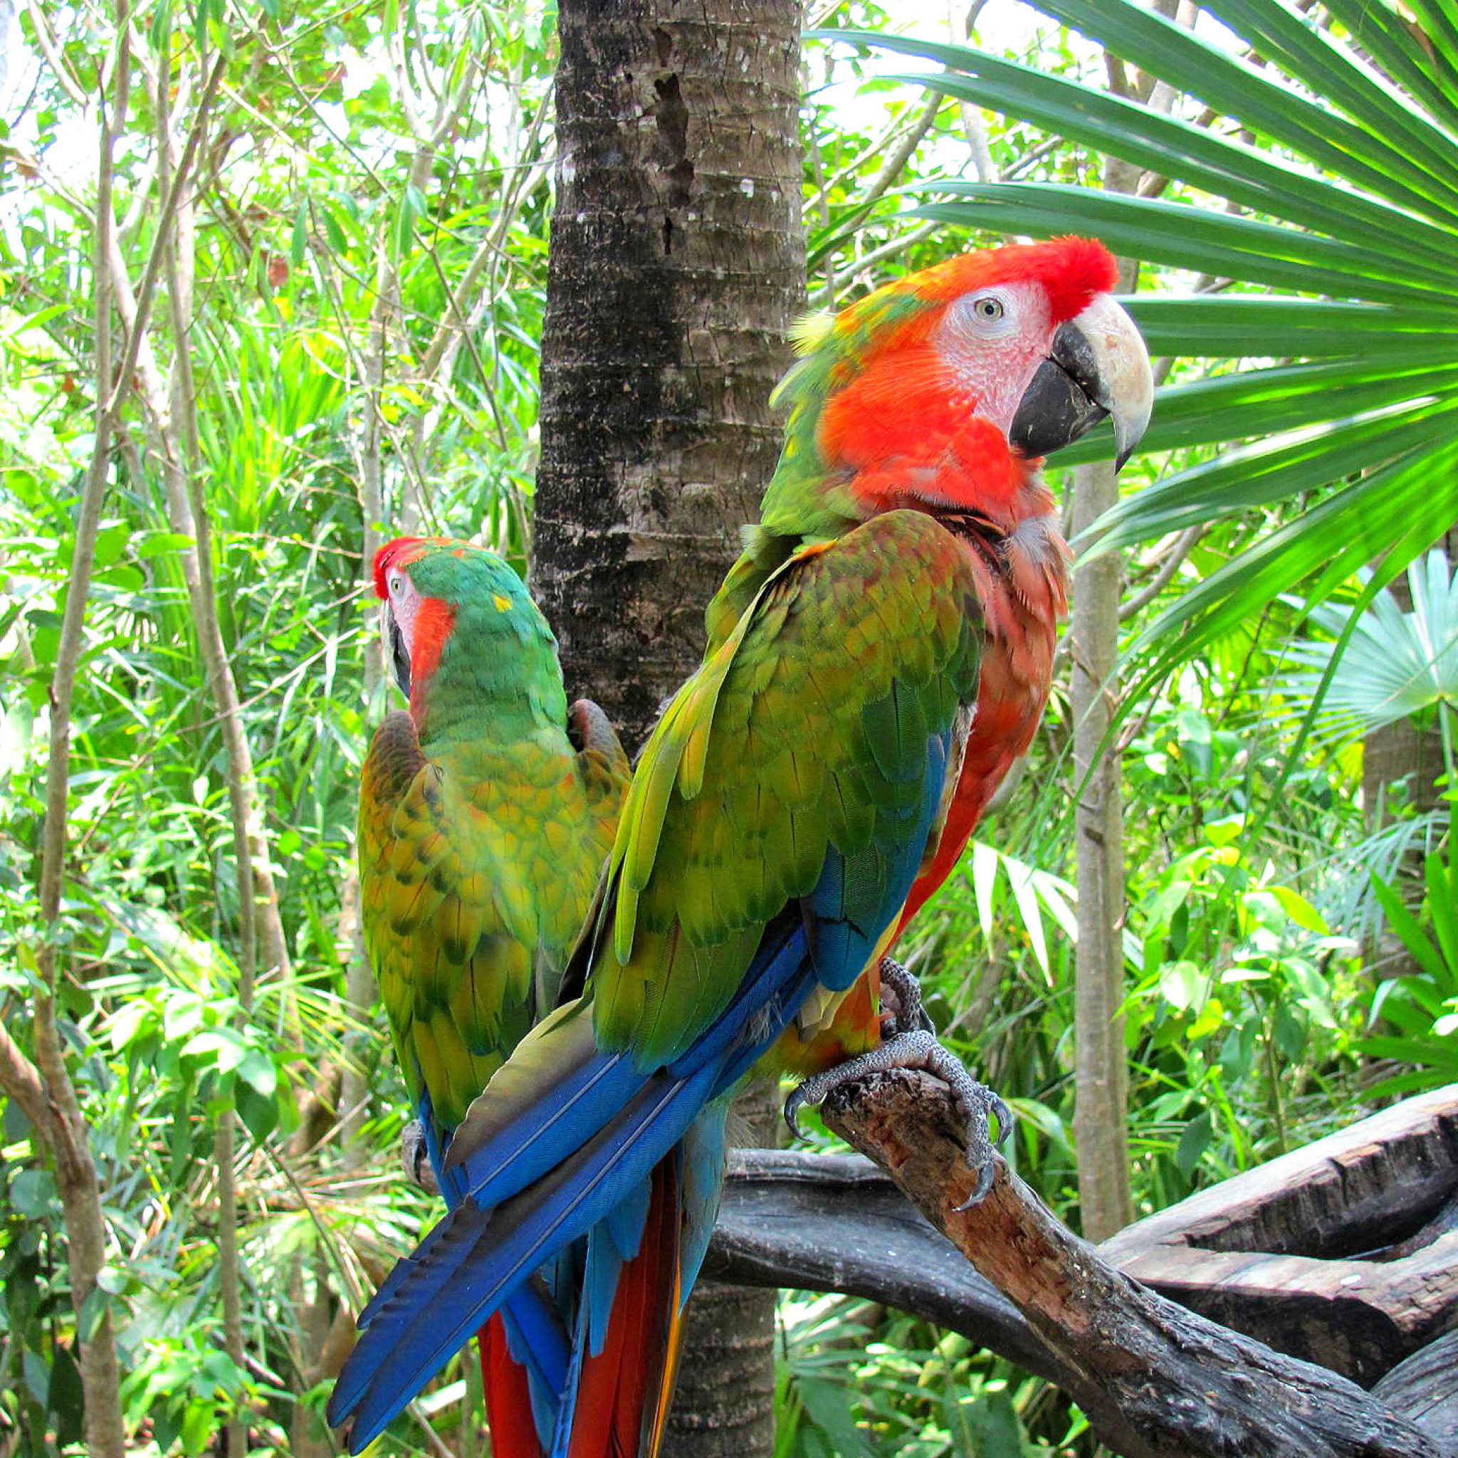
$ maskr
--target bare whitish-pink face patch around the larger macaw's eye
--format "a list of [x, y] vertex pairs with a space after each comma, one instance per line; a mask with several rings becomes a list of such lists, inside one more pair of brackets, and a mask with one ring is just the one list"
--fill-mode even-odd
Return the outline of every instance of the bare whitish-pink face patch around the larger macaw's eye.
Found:
[[1050, 337], [1042, 287], [1002, 283], [949, 303], [932, 343], [956, 385], [975, 397], [972, 413], [1006, 434]]

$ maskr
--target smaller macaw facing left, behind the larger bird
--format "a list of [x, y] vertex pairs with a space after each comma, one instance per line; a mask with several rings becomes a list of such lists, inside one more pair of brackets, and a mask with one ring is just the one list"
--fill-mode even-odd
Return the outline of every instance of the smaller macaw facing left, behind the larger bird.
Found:
[[[364, 758], [364, 948], [426, 1152], [455, 1203], [443, 1152], [557, 999], [628, 764], [596, 704], [569, 709], [555, 639], [494, 553], [401, 537], [375, 555], [375, 590], [410, 712], [383, 720]], [[487, 1413], [499, 1458], [535, 1458], [532, 1389], [538, 1406], [555, 1401], [567, 1337], [537, 1290], [518, 1293], [507, 1318], [481, 1330]]]

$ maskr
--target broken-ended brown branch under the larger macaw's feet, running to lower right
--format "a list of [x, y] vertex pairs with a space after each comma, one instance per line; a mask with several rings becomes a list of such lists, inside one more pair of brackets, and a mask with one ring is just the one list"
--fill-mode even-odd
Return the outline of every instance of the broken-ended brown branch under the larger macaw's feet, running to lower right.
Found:
[[1325, 1368], [1280, 1356], [1130, 1280], [997, 1162], [962, 1158], [945, 1085], [895, 1070], [827, 1099], [827, 1127], [881, 1163], [1067, 1368], [1064, 1391], [1126, 1458], [1443, 1458], [1413, 1423]]

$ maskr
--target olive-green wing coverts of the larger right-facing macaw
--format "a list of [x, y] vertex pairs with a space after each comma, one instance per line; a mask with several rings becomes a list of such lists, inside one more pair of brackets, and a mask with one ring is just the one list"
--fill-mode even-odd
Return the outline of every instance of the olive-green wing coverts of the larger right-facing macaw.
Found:
[[768, 577], [639, 763], [590, 974], [599, 1045], [643, 1069], [681, 1054], [830, 847], [851, 857], [905, 837], [927, 735], [975, 698], [977, 601], [965, 548], [917, 512]]

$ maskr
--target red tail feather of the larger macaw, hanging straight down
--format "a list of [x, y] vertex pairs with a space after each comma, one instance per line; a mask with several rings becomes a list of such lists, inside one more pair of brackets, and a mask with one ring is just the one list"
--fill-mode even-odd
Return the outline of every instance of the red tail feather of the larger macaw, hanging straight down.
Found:
[[675, 1155], [653, 1171], [643, 1241], [618, 1276], [608, 1334], [582, 1363], [567, 1458], [653, 1458], [678, 1350]]

